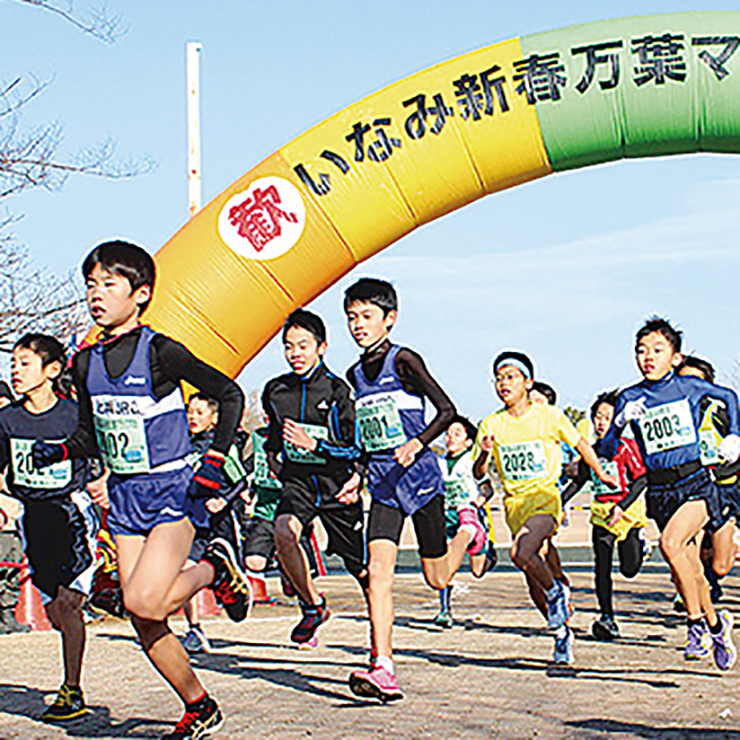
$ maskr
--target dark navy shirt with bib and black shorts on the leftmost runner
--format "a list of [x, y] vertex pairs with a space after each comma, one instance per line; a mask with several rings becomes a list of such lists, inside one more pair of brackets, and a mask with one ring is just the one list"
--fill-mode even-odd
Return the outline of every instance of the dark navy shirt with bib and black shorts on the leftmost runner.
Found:
[[31, 580], [45, 603], [59, 586], [90, 592], [98, 519], [85, 491], [87, 459], [65, 460], [48, 468], [33, 466], [36, 440], [59, 441], [77, 426], [77, 404], [58, 400], [41, 414], [17, 401], [0, 410], [0, 471], [6, 468], [10, 495], [23, 503], [21, 534]]

